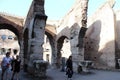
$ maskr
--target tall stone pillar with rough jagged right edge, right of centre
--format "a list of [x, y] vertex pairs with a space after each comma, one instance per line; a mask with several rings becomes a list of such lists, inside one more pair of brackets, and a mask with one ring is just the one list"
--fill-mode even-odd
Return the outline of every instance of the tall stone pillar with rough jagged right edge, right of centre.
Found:
[[73, 67], [75, 72], [78, 71], [79, 62], [84, 60], [83, 38], [87, 27], [86, 23], [88, 0], [76, 0], [76, 4], [76, 23], [71, 28], [71, 51], [73, 56]]

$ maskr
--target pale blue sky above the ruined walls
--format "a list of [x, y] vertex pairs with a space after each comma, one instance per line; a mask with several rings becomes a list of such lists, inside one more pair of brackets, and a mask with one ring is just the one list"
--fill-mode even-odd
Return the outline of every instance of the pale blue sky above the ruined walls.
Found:
[[[106, 0], [89, 0], [88, 16], [92, 15]], [[0, 12], [26, 17], [32, 0], [0, 0]], [[45, 14], [50, 20], [59, 20], [68, 13], [75, 0], [45, 0]], [[120, 0], [114, 9], [120, 10]]]

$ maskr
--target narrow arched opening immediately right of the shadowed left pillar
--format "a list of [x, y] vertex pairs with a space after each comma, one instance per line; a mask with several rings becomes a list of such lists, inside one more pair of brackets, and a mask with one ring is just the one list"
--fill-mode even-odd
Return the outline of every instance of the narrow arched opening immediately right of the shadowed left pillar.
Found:
[[45, 31], [45, 39], [44, 39], [44, 52], [43, 59], [48, 61], [52, 66], [55, 63], [55, 39], [53, 36]]

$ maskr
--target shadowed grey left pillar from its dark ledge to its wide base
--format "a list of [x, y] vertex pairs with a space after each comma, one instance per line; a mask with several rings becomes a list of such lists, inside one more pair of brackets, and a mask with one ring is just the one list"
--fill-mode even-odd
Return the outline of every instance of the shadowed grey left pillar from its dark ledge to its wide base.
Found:
[[45, 77], [47, 62], [43, 61], [43, 43], [47, 16], [36, 13], [32, 31], [28, 72], [37, 77]]

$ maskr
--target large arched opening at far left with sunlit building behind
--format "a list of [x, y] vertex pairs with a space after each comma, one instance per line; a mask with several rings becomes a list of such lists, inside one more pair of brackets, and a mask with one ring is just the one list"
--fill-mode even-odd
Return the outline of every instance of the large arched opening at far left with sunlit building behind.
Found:
[[[10, 51], [11, 56], [20, 54], [19, 31], [12, 25], [0, 24], [0, 56]], [[1, 58], [2, 59], [2, 58]]]

